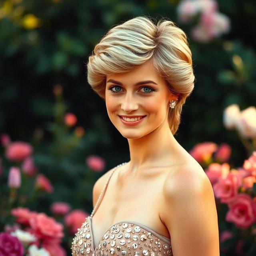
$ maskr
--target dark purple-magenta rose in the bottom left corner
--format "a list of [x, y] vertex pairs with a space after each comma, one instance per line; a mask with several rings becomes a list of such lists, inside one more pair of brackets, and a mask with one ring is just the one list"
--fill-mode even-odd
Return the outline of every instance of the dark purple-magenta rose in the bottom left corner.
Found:
[[0, 256], [23, 256], [22, 243], [15, 236], [0, 233]]

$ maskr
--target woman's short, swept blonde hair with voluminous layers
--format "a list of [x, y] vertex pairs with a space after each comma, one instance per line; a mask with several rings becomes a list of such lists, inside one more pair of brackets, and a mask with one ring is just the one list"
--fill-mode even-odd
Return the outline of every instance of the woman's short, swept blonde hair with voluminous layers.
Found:
[[130, 71], [150, 60], [169, 91], [180, 93], [176, 106], [168, 113], [169, 127], [175, 134], [195, 77], [187, 36], [174, 22], [160, 20], [155, 25], [150, 18], [139, 16], [108, 30], [89, 56], [88, 83], [105, 100], [107, 75]]

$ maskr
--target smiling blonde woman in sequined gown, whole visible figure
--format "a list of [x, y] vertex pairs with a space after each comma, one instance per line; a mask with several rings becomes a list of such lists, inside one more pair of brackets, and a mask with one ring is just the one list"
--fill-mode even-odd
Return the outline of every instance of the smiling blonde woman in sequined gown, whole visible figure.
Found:
[[171, 21], [133, 18], [107, 32], [87, 68], [130, 161], [96, 181], [72, 254], [218, 256], [212, 186], [174, 138], [194, 88], [186, 34]]

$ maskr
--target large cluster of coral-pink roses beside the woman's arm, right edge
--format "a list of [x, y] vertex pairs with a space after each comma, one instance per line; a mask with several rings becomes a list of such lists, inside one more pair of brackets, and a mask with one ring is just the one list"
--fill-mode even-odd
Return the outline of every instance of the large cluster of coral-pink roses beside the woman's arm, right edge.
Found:
[[256, 151], [244, 161], [242, 168], [231, 169], [227, 163], [212, 163], [205, 170], [216, 198], [228, 205], [226, 221], [239, 228], [249, 228], [256, 222], [256, 197], [252, 198], [256, 182]]

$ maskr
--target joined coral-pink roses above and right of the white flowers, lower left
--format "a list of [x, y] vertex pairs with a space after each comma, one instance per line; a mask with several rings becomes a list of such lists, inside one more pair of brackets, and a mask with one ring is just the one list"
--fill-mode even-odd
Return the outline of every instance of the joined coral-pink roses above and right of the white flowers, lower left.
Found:
[[16, 222], [26, 226], [26, 232], [36, 238], [36, 241], [30, 244], [43, 247], [51, 256], [66, 256], [65, 250], [60, 245], [61, 238], [64, 236], [61, 223], [45, 213], [30, 211], [22, 207], [12, 209], [11, 214], [16, 217]]

